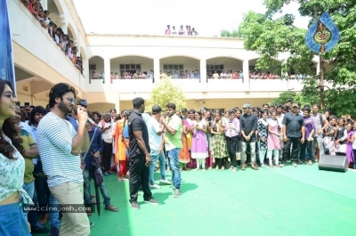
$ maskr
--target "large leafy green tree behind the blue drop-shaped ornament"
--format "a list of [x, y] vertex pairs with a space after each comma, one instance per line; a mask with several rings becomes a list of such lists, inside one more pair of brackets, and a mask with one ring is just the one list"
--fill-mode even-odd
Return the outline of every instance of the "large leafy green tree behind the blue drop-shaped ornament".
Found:
[[[312, 58], [316, 55], [304, 44], [306, 29], [295, 28], [295, 16], [282, 12], [285, 4], [292, 0], [264, 0], [267, 11], [262, 13], [247, 12], [243, 22], [239, 25], [239, 33], [244, 38], [247, 50], [255, 51], [260, 55], [256, 61], [256, 69], [268, 69], [276, 62], [280, 53], [289, 53], [287, 59], [282, 61], [282, 77], [292, 71], [301, 74], [311, 74]], [[323, 63], [333, 68], [325, 72], [324, 79], [331, 84], [325, 87], [320, 75], [319, 83], [305, 81], [303, 94], [318, 94], [316, 102], [321, 103], [323, 109], [335, 110], [337, 114], [356, 114], [356, 108], [346, 107], [349, 101], [356, 101], [356, 0], [295, 0], [299, 3], [298, 11], [301, 16], [308, 16], [314, 22], [324, 12], [329, 12], [339, 28], [341, 38], [336, 47], [327, 52], [320, 53], [320, 71]], [[324, 103], [327, 104], [324, 106]]]

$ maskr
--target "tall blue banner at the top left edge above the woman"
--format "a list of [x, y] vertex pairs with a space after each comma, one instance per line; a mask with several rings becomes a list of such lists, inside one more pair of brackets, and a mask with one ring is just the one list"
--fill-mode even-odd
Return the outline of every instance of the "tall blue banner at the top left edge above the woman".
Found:
[[9, 80], [16, 94], [16, 79], [12, 57], [12, 35], [7, 0], [0, 0], [0, 78]]

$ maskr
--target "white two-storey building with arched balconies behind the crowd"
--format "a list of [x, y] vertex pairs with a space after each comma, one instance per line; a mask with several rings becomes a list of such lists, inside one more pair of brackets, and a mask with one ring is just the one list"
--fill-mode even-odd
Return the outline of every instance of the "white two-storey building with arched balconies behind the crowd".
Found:
[[[160, 70], [174, 69], [200, 70], [200, 79], [173, 80], [182, 86], [187, 108], [193, 109], [227, 110], [245, 102], [261, 105], [287, 89], [300, 91], [303, 87], [297, 80], [249, 78], [248, 71], [255, 68], [258, 55], [247, 52], [242, 39], [88, 34], [71, 0], [41, 1], [53, 22], [74, 39], [83, 61], [81, 74], [20, 0], [8, 0], [8, 4], [18, 99], [22, 103], [45, 106], [51, 87], [65, 82], [77, 88], [77, 96], [88, 101], [89, 110], [131, 109], [134, 97], [150, 98]], [[318, 60], [312, 62], [318, 69]], [[92, 79], [93, 69], [105, 73], [105, 83]], [[111, 83], [111, 71], [121, 75], [135, 69], [147, 73], [153, 69], [155, 79], [114, 79]], [[244, 78], [206, 77], [206, 71], [221, 69], [242, 70]]]

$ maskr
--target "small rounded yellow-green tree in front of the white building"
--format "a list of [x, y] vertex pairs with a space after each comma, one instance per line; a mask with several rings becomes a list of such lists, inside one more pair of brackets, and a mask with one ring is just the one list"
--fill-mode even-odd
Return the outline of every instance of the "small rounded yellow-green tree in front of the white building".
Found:
[[177, 110], [185, 108], [187, 102], [184, 93], [179, 86], [172, 83], [171, 78], [164, 78], [151, 91], [150, 100], [147, 102], [146, 111], [152, 111], [154, 105], [159, 105], [162, 110], [166, 108], [166, 103], [174, 102]]

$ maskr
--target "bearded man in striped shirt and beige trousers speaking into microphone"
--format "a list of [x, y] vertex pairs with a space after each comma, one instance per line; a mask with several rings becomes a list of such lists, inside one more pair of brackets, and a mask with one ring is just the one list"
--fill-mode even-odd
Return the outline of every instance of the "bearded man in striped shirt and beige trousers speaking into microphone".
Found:
[[89, 135], [85, 124], [88, 114], [77, 106], [77, 132], [65, 119], [76, 105], [76, 90], [60, 83], [53, 86], [49, 94], [51, 111], [41, 119], [37, 127], [37, 144], [42, 159], [48, 187], [61, 206], [75, 209], [62, 211], [61, 235], [89, 235], [90, 225], [84, 207], [83, 172], [80, 152], [89, 149]]

